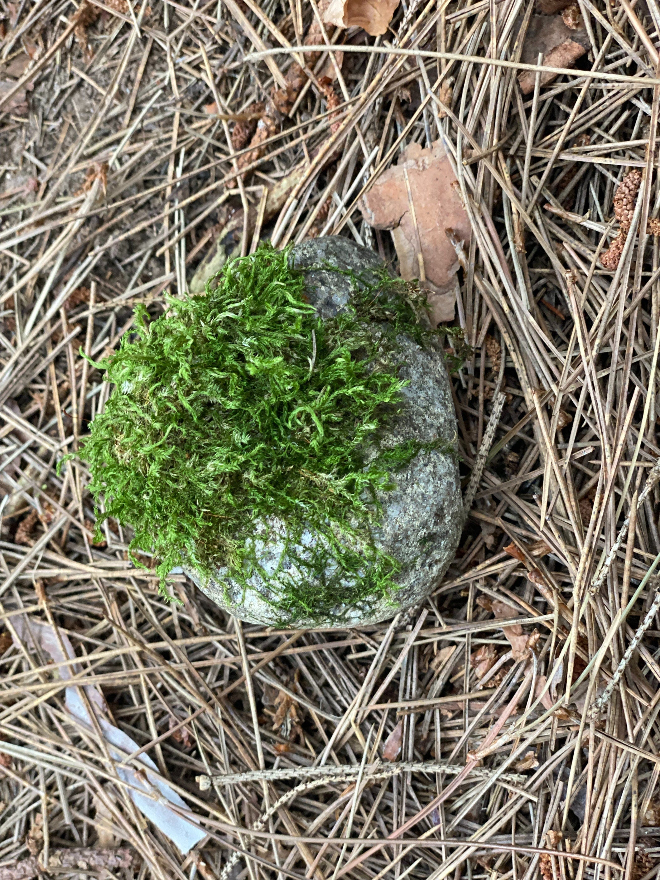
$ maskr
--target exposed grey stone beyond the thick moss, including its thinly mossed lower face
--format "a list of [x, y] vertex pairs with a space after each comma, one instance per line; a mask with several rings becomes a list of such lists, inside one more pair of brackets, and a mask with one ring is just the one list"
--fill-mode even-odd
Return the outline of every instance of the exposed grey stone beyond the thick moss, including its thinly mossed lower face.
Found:
[[[377, 254], [345, 238], [305, 241], [290, 260], [303, 271], [306, 298], [324, 322], [355, 304], [356, 274], [377, 287], [383, 271]], [[383, 317], [378, 309], [371, 311], [376, 340]], [[253, 522], [253, 534], [242, 549], [240, 576], [236, 568], [222, 565], [213, 576], [185, 566], [217, 605], [258, 624], [353, 627], [387, 620], [435, 588], [454, 558], [464, 518], [453, 450], [456, 416], [442, 348], [413, 336], [396, 336], [396, 370], [406, 383], [399, 411], [364, 450], [365, 469], [387, 461], [388, 455], [393, 463], [389, 484], [381, 483], [369, 502], [370, 546], [359, 531], [338, 530], [332, 523], [301, 530], [299, 524], [292, 528], [287, 517], [262, 517]], [[414, 452], [402, 456], [401, 450]], [[337, 542], [353, 561], [348, 570], [338, 559]], [[384, 560], [391, 563], [389, 572]], [[385, 574], [379, 569], [378, 577], [370, 579], [370, 568], [378, 566]], [[363, 583], [370, 583], [370, 589], [361, 589]], [[291, 595], [292, 585], [296, 600], [287, 603], [282, 597]]]

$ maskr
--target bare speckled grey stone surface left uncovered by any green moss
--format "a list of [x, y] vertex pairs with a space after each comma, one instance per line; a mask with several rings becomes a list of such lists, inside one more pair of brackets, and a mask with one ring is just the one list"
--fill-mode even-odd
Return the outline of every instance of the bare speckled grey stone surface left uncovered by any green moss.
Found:
[[[378, 254], [346, 238], [304, 241], [293, 249], [292, 258], [297, 268], [305, 271], [306, 294], [323, 318], [346, 307], [351, 282], [337, 272], [306, 267], [318, 267], [324, 260], [337, 268], [356, 272], [382, 266]], [[438, 438], [452, 444], [456, 437], [456, 415], [442, 353], [421, 348], [406, 336], [401, 336], [399, 342], [404, 362], [400, 376], [410, 384], [403, 391], [403, 411], [388, 423], [381, 448], [405, 440], [431, 443]], [[421, 602], [444, 575], [456, 553], [463, 526], [456, 458], [438, 449], [421, 451], [397, 471], [394, 479], [396, 488], [380, 497], [383, 517], [378, 531], [374, 532], [378, 548], [401, 563], [391, 598], [373, 598], [360, 605], [338, 603], [324, 619], [297, 620], [296, 627], [356, 627], [387, 620], [396, 612]], [[280, 571], [295, 571], [292, 554], [285, 547], [285, 535], [286, 524], [282, 521], [265, 522], [255, 530], [254, 549], [266, 572], [275, 573], [278, 567]], [[317, 539], [314, 532], [304, 532], [293, 554], [305, 556]], [[208, 580], [193, 571], [187, 573], [217, 605], [241, 620], [287, 626], [282, 612], [273, 607], [275, 593], [260, 576], [253, 576], [251, 589], [244, 592], [226, 576], [224, 569], [218, 570], [215, 579]]]

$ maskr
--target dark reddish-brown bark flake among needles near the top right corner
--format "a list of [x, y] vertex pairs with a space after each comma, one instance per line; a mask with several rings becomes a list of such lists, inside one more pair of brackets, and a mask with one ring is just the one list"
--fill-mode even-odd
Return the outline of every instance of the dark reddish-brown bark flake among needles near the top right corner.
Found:
[[[561, 15], [532, 15], [524, 38], [521, 61], [536, 64], [539, 52], [543, 54], [544, 67], [572, 68], [589, 47], [584, 28], [568, 27]], [[540, 84], [547, 85], [556, 79], [556, 73], [542, 73]], [[518, 77], [524, 95], [534, 91], [536, 72], [524, 70]]]

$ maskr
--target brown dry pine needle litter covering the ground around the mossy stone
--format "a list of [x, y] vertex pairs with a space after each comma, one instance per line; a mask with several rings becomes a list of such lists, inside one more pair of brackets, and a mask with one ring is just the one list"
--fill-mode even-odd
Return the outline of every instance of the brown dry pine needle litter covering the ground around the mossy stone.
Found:
[[[0, 880], [660, 874], [656, 0], [0, 0], [0, 39]], [[454, 328], [469, 514], [412, 612], [241, 626], [95, 539], [80, 352], [319, 235]]]

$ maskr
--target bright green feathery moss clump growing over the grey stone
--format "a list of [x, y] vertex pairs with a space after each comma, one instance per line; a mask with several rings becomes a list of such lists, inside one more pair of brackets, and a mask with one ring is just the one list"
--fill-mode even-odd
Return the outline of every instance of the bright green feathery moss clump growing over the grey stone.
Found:
[[115, 385], [82, 452], [105, 497], [99, 522], [132, 525], [131, 548], [158, 556], [163, 589], [181, 563], [204, 576], [226, 567], [245, 585], [255, 529], [277, 517], [291, 548], [305, 529], [320, 536], [300, 576], [277, 580], [282, 617], [387, 595], [398, 566], [371, 539], [377, 496], [421, 444], [364, 455], [400, 409], [397, 334], [426, 334], [419, 295], [385, 277], [378, 289], [356, 278], [355, 305], [324, 321], [289, 252], [262, 246], [205, 296], [168, 299], [166, 316], [136, 310], [139, 338], [97, 364]]

